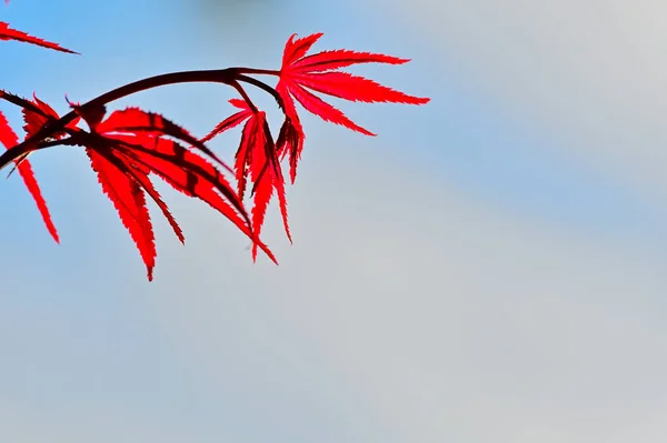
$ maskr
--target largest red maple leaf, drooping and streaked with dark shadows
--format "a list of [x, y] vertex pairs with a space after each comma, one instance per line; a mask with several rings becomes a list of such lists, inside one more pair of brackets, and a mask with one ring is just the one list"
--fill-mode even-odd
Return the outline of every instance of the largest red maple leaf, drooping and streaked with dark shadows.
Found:
[[[253, 232], [241, 199], [223, 174], [195, 150], [209, 155], [225, 169], [229, 168], [187, 130], [159, 114], [137, 108], [115, 111], [104, 121], [100, 121], [103, 112], [99, 110], [74, 109], [89, 122], [91, 132], [79, 132], [66, 144], [86, 147], [104, 192], [141, 253], [149, 280], [152, 279], [156, 250], [145, 191], [162, 210], [181, 242], [183, 236], [150, 183], [148, 173], [155, 173], [176, 190], [208, 203], [253, 241], [253, 251], [259, 246], [275, 261], [258, 232]], [[188, 143], [190, 149], [181, 142]]]

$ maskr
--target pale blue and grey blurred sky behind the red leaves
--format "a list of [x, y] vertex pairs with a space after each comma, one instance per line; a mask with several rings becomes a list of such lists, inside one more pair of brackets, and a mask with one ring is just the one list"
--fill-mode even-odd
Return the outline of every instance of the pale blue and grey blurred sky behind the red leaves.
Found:
[[[411, 58], [355, 72], [432, 99], [303, 117], [272, 207], [279, 266], [165, 190], [156, 281], [80, 150], [34, 155], [61, 245], [3, 181], [0, 440], [663, 442], [667, 31], [661, 1], [16, 0], [2, 88], [66, 110], [157, 73], [277, 68], [287, 38]], [[125, 104], [203, 134], [230, 90]], [[265, 100], [265, 101], [262, 101]], [[270, 100], [258, 102], [271, 108]], [[16, 128], [19, 114], [2, 107]], [[238, 131], [212, 143], [230, 159]]]

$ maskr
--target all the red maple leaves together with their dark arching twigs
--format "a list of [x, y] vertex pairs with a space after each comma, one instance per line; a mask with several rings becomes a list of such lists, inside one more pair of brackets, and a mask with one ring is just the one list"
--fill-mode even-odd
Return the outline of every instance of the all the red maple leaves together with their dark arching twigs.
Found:
[[[147, 197], [157, 204], [176, 236], [185, 243], [182, 230], [151, 181], [155, 177], [177, 191], [208, 203], [231, 221], [252, 241], [253, 260], [258, 250], [261, 250], [276, 262], [271, 251], [260, 240], [260, 232], [275, 193], [286, 234], [291, 242], [282, 162], [289, 164], [290, 182], [293, 184], [306, 139], [296, 102], [325, 121], [375, 135], [316, 93], [361, 102], [424, 104], [429, 101], [340, 71], [341, 68], [359, 63], [402, 64], [409, 60], [345, 49], [308, 54], [321, 36], [290, 37], [278, 70], [227, 68], [166, 73], [121, 85], [82, 104], [69, 103], [71, 111], [64, 115], [59, 115], [34, 94], [29, 100], [0, 90], [0, 99], [21, 109], [26, 133], [23, 140], [19, 141], [0, 111], [0, 143], [7, 148], [0, 155], [0, 169], [13, 164], [32, 194], [48, 231], [59, 242], [28, 157], [57, 145], [83, 149], [102, 191], [136, 243], [149, 280], [152, 280], [157, 253], [152, 222], [146, 205]], [[58, 43], [12, 29], [1, 21], [0, 40], [16, 40], [77, 53]], [[258, 80], [258, 75], [276, 77], [276, 87]], [[166, 84], [195, 81], [223, 83], [239, 94], [239, 98], [229, 101], [238, 111], [202, 138], [195, 137], [158, 113], [139, 108], [107, 111], [107, 105], [120, 98]], [[255, 105], [243, 85], [259, 88], [276, 99], [285, 118], [277, 137], [271, 132], [266, 113]], [[82, 123], [87, 128], [81, 128]], [[241, 124], [233, 165], [228, 167], [206, 143]], [[248, 192], [252, 202], [250, 212], [245, 204]]]

